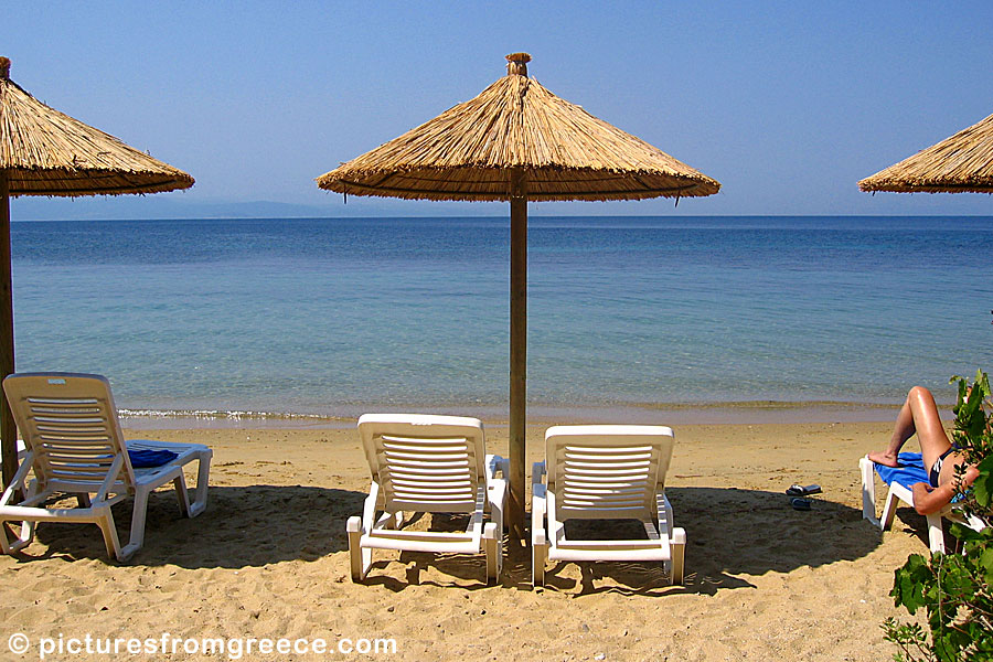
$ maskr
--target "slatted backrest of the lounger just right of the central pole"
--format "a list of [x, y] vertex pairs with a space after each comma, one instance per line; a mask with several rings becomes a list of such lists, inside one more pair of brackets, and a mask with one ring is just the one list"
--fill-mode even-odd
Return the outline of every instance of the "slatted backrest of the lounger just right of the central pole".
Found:
[[662, 426], [556, 426], [545, 434], [548, 491], [556, 517], [642, 517], [658, 511], [672, 458]]

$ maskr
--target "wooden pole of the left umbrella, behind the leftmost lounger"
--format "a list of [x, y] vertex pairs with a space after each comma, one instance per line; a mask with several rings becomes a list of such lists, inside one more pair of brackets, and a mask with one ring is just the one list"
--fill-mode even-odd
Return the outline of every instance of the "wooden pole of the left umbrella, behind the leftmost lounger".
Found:
[[[13, 353], [13, 288], [10, 265], [10, 181], [0, 172], [0, 380], [14, 371]], [[10, 484], [18, 470], [18, 428], [0, 394], [0, 465], [3, 485]]]

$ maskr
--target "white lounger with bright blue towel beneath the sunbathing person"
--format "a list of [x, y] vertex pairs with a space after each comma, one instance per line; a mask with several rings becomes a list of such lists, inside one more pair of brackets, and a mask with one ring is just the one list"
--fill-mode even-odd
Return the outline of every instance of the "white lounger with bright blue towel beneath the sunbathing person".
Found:
[[[893, 526], [896, 508], [903, 501], [914, 508], [915, 482], [927, 482], [928, 473], [920, 462], [920, 453], [900, 453], [901, 467], [899, 470], [889, 470], [893, 474], [889, 482], [889, 491], [886, 493], [886, 502], [883, 504], [883, 514], [876, 517], [876, 471], [874, 462], [868, 457], [859, 458], [858, 470], [862, 473], [862, 517], [868, 520], [880, 530], [886, 531]], [[884, 471], [886, 469], [883, 469]], [[882, 478], [880, 478], [882, 480]], [[946, 553], [944, 528], [942, 519], [964, 524], [974, 531], [982, 531], [986, 523], [976, 516], [964, 517], [954, 511], [949, 504], [930, 515], [925, 515], [928, 522], [928, 547], [931, 553]]]

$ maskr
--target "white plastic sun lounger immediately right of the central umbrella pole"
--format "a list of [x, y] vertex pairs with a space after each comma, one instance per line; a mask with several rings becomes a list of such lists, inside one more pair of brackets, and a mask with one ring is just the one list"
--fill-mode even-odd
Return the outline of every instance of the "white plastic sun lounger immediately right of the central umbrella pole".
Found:
[[[535, 586], [545, 562], [662, 562], [683, 583], [686, 532], [673, 528], [665, 498], [672, 429], [662, 426], [556, 426], [545, 434], [545, 461], [532, 478], [532, 554]], [[545, 482], [542, 478], [545, 477]], [[570, 540], [568, 520], [638, 520], [640, 540]]]

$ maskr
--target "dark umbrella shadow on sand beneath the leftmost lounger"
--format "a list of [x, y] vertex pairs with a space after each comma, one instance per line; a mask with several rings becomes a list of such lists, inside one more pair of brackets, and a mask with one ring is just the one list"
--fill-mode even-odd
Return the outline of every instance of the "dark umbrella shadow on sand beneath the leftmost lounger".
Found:
[[[128, 565], [243, 568], [317, 560], [348, 551], [345, 521], [362, 512], [366, 494], [301, 485], [210, 488], [206, 510], [183, 517], [172, 490], [151, 494], [145, 545]], [[114, 506], [121, 544], [130, 535], [131, 500]], [[38, 543], [46, 546], [36, 553]], [[24, 560], [63, 557], [108, 560], [95, 525], [43, 523]], [[109, 559], [117, 563], [116, 559]]]

